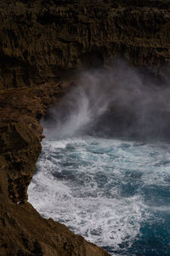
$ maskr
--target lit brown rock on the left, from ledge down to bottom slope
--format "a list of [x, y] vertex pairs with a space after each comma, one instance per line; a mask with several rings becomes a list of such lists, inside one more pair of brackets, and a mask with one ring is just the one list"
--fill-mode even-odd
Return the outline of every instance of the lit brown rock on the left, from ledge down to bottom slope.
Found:
[[[38, 120], [67, 89], [66, 83], [9, 89], [0, 95], [0, 256], [106, 256], [65, 225], [43, 219], [27, 200], [42, 127]], [[71, 86], [71, 85], [70, 85]]]

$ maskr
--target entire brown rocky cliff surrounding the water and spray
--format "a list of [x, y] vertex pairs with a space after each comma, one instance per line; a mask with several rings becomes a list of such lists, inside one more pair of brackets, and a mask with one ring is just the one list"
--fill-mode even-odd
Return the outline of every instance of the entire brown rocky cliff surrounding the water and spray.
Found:
[[121, 57], [167, 78], [170, 3], [8, 0], [0, 25], [0, 255], [108, 255], [26, 202], [41, 152], [38, 121], [77, 67]]

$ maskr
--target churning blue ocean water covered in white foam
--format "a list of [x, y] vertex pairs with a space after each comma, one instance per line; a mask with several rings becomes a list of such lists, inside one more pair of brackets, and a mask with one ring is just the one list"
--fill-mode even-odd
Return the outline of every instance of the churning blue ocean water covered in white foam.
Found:
[[44, 218], [111, 255], [170, 255], [168, 143], [45, 139], [28, 195]]

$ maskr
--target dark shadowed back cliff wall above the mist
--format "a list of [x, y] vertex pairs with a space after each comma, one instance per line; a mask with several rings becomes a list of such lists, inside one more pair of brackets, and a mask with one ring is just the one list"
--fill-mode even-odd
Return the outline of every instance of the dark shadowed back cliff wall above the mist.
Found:
[[1, 1], [0, 88], [58, 81], [116, 56], [166, 76], [169, 30], [165, 0]]

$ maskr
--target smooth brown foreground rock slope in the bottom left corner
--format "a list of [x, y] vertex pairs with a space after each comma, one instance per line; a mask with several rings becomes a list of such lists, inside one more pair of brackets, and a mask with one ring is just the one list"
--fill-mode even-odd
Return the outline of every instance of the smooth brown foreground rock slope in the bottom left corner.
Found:
[[[4, 198], [0, 196], [2, 202]], [[107, 256], [65, 225], [43, 219], [29, 203], [0, 204], [0, 255]]]

